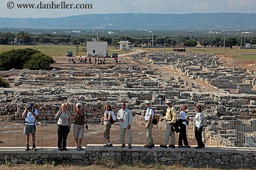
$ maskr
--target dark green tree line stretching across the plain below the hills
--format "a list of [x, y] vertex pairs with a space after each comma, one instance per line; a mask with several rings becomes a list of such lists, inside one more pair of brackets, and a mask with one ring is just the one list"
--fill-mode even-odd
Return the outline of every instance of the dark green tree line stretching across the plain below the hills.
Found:
[[[11, 32], [2, 33], [0, 32], [0, 44], [10, 44], [14, 40], [18, 41], [20, 44], [23, 43], [36, 43], [36, 44], [74, 44], [74, 45], [85, 45], [87, 41], [92, 41], [95, 36], [92, 35], [66, 35], [66, 34], [28, 34], [25, 31], [20, 31], [18, 34], [13, 34]], [[108, 37], [108, 36], [100, 36], [100, 41], [107, 41], [108, 44], [113, 44], [118, 46], [119, 41], [127, 40], [131, 42], [134, 47], [141, 47], [141, 45], [152, 45], [154, 43], [155, 46], [174, 46], [177, 44], [183, 44], [185, 46], [194, 47], [197, 44], [202, 46], [212, 46], [212, 47], [223, 47], [224, 46], [224, 38], [225, 38], [225, 46], [232, 48], [232, 46], [244, 46], [249, 43], [251, 45], [256, 44], [256, 36], [248, 36], [242, 37], [242, 45], [241, 45], [241, 37], [240, 36], [216, 36], [216, 37], [193, 37], [193, 36], [180, 36], [178, 38], [175, 36], [165, 36], [158, 37], [154, 36], [154, 42], [152, 42], [152, 37], [144, 37], [144, 36], [119, 36], [119, 37]]]

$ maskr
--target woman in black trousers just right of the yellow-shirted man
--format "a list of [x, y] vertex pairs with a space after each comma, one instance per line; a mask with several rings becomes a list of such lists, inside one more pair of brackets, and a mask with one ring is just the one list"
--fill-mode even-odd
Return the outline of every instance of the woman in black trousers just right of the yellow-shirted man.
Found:
[[[186, 121], [189, 121], [190, 119], [187, 119], [187, 116], [186, 116], [186, 109], [188, 108], [187, 105], [182, 105], [181, 106], [181, 112], [180, 112], [180, 119], [182, 120], [182, 123], [180, 125], [180, 128], [181, 128], [181, 132], [179, 134], [179, 145], [178, 147], [179, 148], [190, 148], [191, 146], [189, 145], [189, 142], [188, 142], [188, 139], [187, 139], [187, 130], [186, 130], [186, 126], [187, 126], [187, 122]], [[184, 142], [184, 145], [182, 145], [182, 140]]]

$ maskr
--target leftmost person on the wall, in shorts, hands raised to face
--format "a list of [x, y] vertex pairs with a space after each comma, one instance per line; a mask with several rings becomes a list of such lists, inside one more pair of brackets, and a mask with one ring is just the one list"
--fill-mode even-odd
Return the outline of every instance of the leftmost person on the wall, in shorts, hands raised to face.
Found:
[[22, 113], [22, 118], [25, 118], [25, 127], [24, 127], [24, 134], [26, 135], [27, 140], [27, 147], [25, 151], [29, 150], [29, 136], [31, 133], [32, 136], [32, 142], [33, 142], [33, 150], [36, 151], [35, 148], [35, 125], [36, 125], [36, 117], [38, 115], [38, 112], [36, 109], [34, 109], [33, 103], [28, 103], [28, 106]]

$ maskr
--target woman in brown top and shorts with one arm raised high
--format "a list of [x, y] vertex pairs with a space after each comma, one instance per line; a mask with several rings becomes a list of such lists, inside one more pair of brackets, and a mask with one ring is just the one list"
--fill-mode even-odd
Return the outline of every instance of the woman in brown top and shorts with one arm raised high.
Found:
[[74, 142], [76, 145], [77, 151], [83, 151], [84, 149], [81, 147], [82, 140], [84, 138], [84, 124], [85, 124], [85, 113], [82, 111], [81, 103], [76, 103], [78, 97], [74, 99]]

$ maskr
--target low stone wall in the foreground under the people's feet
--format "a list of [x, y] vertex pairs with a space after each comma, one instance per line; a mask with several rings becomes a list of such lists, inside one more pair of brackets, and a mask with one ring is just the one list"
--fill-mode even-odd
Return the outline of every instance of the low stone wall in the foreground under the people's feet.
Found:
[[[95, 160], [112, 158], [124, 161], [126, 163], [140, 161], [147, 163], [163, 163], [168, 165], [182, 164], [183, 166], [196, 167], [197, 165], [227, 165], [239, 167], [255, 167], [256, 152], [253, 150], [247, 151], [240, 148], [204, 148], [196, 150], [194, 148], [177, 148], [163, 149], [155, 147], [150, 150], [145, 150], [143, 146], [134, 146], [132, 151], [123, 149], [120, 151], [119, 146], [113, 146], [113, 150], [106, 151], [103, 146], [97, 146], [97, 151], [91, 146], [88, 146], [85, 153], [51, 153], [51, 151], [34, 153], [0, 153], [0, 163], [4, 163], [5, 157], [7, 161], [14, 164], [38, 163], [45, 164], [53, 160], [68, 161], [71, 163], [88, 163]], [[116, 148], [116, 151], [114, 151]], [[101, 150], [103, 149], [103, 150]], [[74, 150], [75, 152], [75, 150]]]

